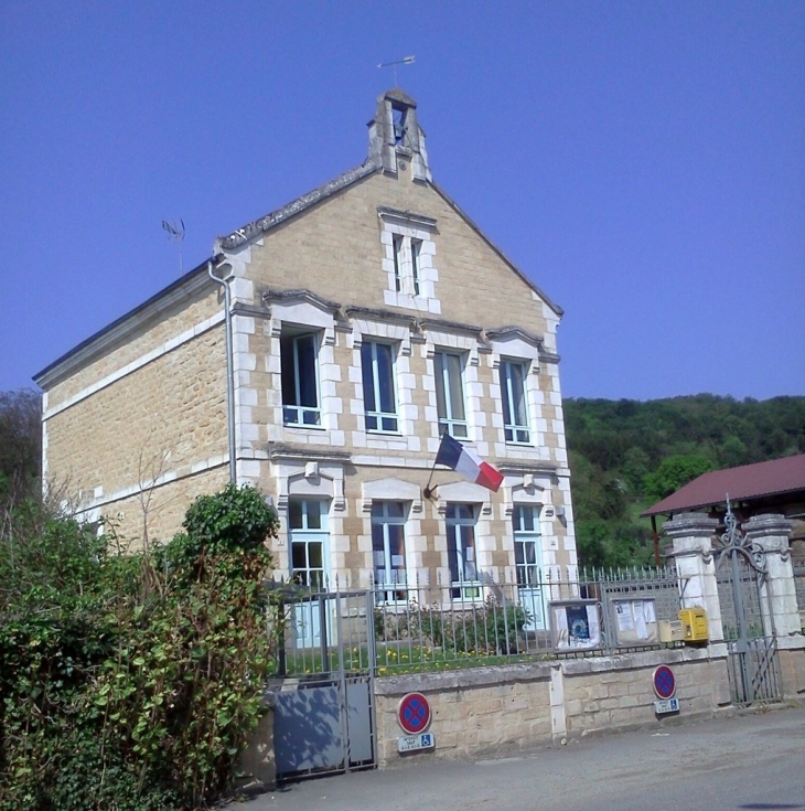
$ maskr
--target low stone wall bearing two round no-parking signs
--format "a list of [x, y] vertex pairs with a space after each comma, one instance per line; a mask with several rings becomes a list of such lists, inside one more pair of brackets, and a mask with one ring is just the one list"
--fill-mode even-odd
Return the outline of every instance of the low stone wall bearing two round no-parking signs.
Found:
[[[654, 713], [652, 675], [676, 676], [678, 715]], [[436, 749], [399, 755], [400, 698], [428, 697]], [[730, 704], [726, 645], [418, 673], [375, 680], [380, 768], [408, 761], [501, 756], [571, 737], [710, 717]]]

